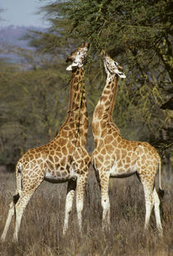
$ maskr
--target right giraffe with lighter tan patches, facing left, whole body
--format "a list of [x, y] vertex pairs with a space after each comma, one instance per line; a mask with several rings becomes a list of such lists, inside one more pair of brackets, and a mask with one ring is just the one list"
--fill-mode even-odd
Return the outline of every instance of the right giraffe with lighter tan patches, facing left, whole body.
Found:
[[96, 179], [101, 187], [102, 227], [110, 230], [110, 178], [126, 178], [134, 173], [143, 184], [146, 216], [144, 228], [147, 230], [152, 206], [154, 205], [159, 235], [162, 235], [160, 201], [155, 187], [155, 176], [159, 167], [159, 192], [161, 190], [161, 158], [157, 150], [147, 142], [124, 140], [119, 128], [112, 120], [118, 77], [125, 78], [119, 65], [104, 55], [105, 88], [101, 94], [92, 120], [92, 133], [95, 149], [91, 154], [91, 164], [95, 169]]

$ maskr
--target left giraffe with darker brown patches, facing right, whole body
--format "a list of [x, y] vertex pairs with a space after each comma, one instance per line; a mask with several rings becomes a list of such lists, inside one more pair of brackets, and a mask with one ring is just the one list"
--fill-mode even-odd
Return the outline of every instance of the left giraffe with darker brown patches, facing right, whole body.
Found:
[[83, 196], [91, 159], [85, 149], [88, 119], [83, 82], [83, 67], [88, 47], [87, 43], [83, 43], [68, 57], [72, 62], [67, 68], [72, 70], [69, 110], [58, 135], [47, 145], [29, 149], [16, 164], [16, 192], [9, 207], [2, 241], [6, 239], [7, 230], [14, 215], [13, 241], [18, 241], [23, 212], [30, 197], [44, 180], [49, 183], [68, 182], [63, 235], [68, 229], [72, 200], [77, 189], [77, 220], [79, 230], [82, 231]]

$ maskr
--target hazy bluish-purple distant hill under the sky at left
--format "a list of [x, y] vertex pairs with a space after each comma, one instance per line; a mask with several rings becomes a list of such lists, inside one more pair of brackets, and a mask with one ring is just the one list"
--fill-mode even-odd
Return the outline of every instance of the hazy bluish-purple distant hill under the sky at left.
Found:
[[27, 40], [21, 40], [28, 31], [44, 31], [41, 27], [35, 26], [6, 26], [0, 27], [0, 43], [14, 45], [21, 48], [30, 48]]

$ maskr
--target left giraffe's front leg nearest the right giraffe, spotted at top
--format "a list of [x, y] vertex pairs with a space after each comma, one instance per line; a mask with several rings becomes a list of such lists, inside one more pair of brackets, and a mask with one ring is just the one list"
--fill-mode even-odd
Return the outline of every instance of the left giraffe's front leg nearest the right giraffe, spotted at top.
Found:
[[86, 175], [85, 177], [79, 176], [77, 178], [77, 220], [79, 225], [79, 231], [82, 234], [82, 210], [83, 210], [83, 196], [86, 186]]

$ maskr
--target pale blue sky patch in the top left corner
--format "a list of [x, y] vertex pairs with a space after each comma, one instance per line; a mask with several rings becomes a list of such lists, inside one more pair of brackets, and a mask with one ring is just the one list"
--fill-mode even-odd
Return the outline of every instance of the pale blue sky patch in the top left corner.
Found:
[[[38, 15], [39, 7], [44, 6], [49, 0], [1, 0], [0, 26], [48, 26], [44, 13]], [[53, 1], [51, 1], [53, 2]]]

